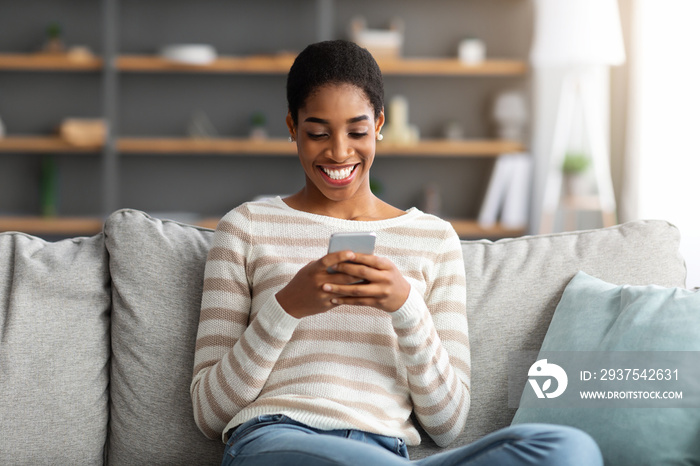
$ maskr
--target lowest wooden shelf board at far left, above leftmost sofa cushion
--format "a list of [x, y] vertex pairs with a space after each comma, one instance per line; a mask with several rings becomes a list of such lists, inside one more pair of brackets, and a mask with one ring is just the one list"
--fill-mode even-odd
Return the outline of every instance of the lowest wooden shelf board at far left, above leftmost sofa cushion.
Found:
[[102, 231], [103, 220], [96, 217], [4, 217], [0, 232], [21, 231], [33, 235], [94, 235]]

